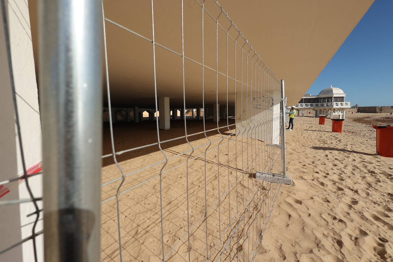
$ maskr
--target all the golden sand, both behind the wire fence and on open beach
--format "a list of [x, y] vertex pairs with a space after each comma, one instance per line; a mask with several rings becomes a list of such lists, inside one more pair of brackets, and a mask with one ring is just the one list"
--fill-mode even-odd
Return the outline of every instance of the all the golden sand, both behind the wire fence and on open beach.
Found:
[[[318, 125], [313, 117], [296, 117], [295, 130], [287, 131], [287, 168], [294, 185], [281, 186], [270, 222], [259, 249], [253, 249], [257, 235], [266, 226], [271, 203], [279, 185], [258, 182], [252, 178], [256, 170], [270, 169], [279, 172], [277, 165], [266, 166], [266, 156], [276, 156], [278, 148], [268, 148], [263, 141], [234, 138], [229, 136], [232, 127], [220, 132], [209, 132], [213, 141], [211, 148], [222, 143], [220, 149], [207, 153], [206, 193], [207, 205], [211, 207], [206, 223], [204, 184], [204, 145], [208, 139], [203, 134], [191, 137], [191, 146], [185, 139], [164, 143], [162, 149], [169, 157], [163, 168], [163, 215], [165, 253], [173, 251], [167, 261], [188, 261], [187, 217], [195, 225], [191, 235], [190, 259], [206, 260], [206, 224], [208, 225], [208, 249], [211, 259], [217, 260], [223, 249], [215, 246], [228, 240], [231, 228], [238, 226], [230, 220], [239, 214], [247, 223], [239, 226], [240, 235], [231, 238], [229, 247], [223, 252], [222, 261], [237, 261], [239, 256], [247, 261], [255, 251], [255, 261], [393, 261], [393, 158], [375, 154], [375, 130], [371, 124], [392, 124], [392, 118], [384, 114], [348, 114], [343, 133], [331, 132], [331, 120]], [[232, 122], [230, 122], [231, 124]], [[224, 121], [220, 126], [225, 125]], [[207, 129], [214, 128], [211, 121]], [[116, 151], [146, 145], [156, 141], [155, 124], [143, 122], [138, 125], [119, 123], [114, 126]], [[201, 121], [187, 121], [187, 132], [202, 131]], [[166, 140], [184, 134], [184, 123], [171, 123], [171, 130], [160, 132], [160, 139]], [[144, 139], [140, 139], [144, 137]], [[236, 139], [236, 140], [234, 140]], [[252, 161], [241, 160], [257, 156], [255, 167], [246, 169]], [[252, 147], [253, 145], [253, 147]], [[189, 151], [175, 157], [179, 152]], [[111, 152], [109, 129], [104, 128], [103, 154]], [[195, 158], [185, 165], [189, 154]], [[162, 258], [160, 181], [157, 174], [163, 162], [140, 170], [152, 163], [162, 161], [163, 153], [156, 145], [126, 152], [117, 157], [125, 174], [130, 174], [121, 187], [120, 220], [123, 261], [160, 261]], [[183, 164], [182, 164], [183, 163]], [[230, 168], [228, 168], [228, 165]], [[189, 207], [187, 210], [187, 180], [189, 172]], [[112, 158], [103, 159], [103, 183], [119, 178], [121, 172]], [[220, 178], [220, 186], [217, 180]], [[236, 180], [237, 179], [237, 180]], [[144, 181], [149, 180], [145, 183]], [[121, 180], [102, 187], [101, 218], [101, 261], [119, 261], [116, 189]], [[141, 184], [143, 183], [143, 184]], [[259, 200], [247, 198], [249, 192], [260, 190]], [[218, 193], [223, 194], [217, 205]], [[244, 192], [246, 192], [244, 194]], [[266, 193], [266, 195], [263, 195]], [[252, 205], [251, 212], [241, 205]], [[218, 211], [220, 206], [220, 212]], [[219, 216], [220, 213], [220, 216]], [[256, 223], [252, 223], [256, 222]], [[244, 239], [242, 236], [249, 235]], [[185, 237], [184, 237], [185, 236]], [[386, 242], [388, 241], [388, 242]], [[179, 244], [176, 246], [176, 243]], [[223, 241], [225, 242], [225, 241]], [[257, 246], [257, 245], [255, 245]], [[243, 261], [243, 260], [241, 260]]]

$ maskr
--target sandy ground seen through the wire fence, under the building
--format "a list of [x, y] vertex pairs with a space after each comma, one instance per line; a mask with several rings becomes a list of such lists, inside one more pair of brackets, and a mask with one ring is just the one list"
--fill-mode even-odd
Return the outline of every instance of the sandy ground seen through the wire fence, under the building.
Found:
[[[160, 191], [166, 261], [189, 261], [189, 248], [192, 261], [205, 261], [208, 255], [211, 261], [220, 257], [223, 261], [229, 258], [236, 261], [239, 257], [248, 260], [255, 255], [257, 241], [261, 240], [258, 235], [265, 228], [272, 200], [279, 189], [278, 183], [255, 180], [255, 172], [281, 173], [281, 149], [267, 147], [266, 139], [252, 139], [251, 134], [233, 136], [234, 123], [233, 119], [228, 122], [222, 119], [219, 132], [206, 133], [210, 143], [203, 133], [197, 134], [203, 131], [203, 121], [189, 120], [187, 134], [196, 134], [189, 137], [189, 144], [182, 137], [185, 134], [184, 121], [172, 121], [170, 130], [160, 130], [160, 139], [180, 138], [163, 142], [163, 152], [157, 145], [151, 145], [117, 156], [120, 168], [127, 175], [119, 190], [123, 193], [119, 197], [123, 261], [153, 262], [162, 258]], [[271, 125], [258, 121], [254, 124], [256, 126], [250, 127], [254, 130], [258, 125]], [[217, 123], [206, 121], [206, 130], [215, 128]], [[105, 125], [104, 155], [112, 151], [110, 141], [109, 128]], [[116, 152], [155, 142], [154, 121], [114, 124]], [[168, 158], [165, 166], [164, 154]], [[102, 261], [119, 261], [114, 196], [121, 183], [120, 177], [121, 172], [113, 158], [104, 158], [102, 183], [107, 184], [101, 187], [101, 196], [103, 201], [108, 201], [101, 205]]]

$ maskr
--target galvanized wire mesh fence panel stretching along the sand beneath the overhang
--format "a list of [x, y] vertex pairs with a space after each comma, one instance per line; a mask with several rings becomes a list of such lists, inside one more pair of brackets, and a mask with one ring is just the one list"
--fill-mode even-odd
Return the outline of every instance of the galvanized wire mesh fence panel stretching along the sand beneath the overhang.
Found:
[[[151, 35], [103, 13], [110, 118], [103, 135], [103, 261], [253, 261], [281, 187], [279, 177], [277, 183], [255, 179], [257, 171], [283, 174], [280, 81], [218, 2], [192, 2], [200, 19], [201, 49], [195, 50], [200, 59], [185, 55], [183, 1], [166, 4], [168, 14], [181, 9], [179, 50], [156, 42], [153, 0]], [[107, 35], [116, 28], [134, 37], [132, 49], [150, 49], [145, 59], [153, 63], [156, 112], [162, 93], [158, 52], [180, 57], [181, 114], [190, 107], [187, 69], [198, 69], [193, 75], [200, 88], [202, 121], [183, 115], [171, 122], [173, 132], [160, 130], [159, 117], [138, 126], [113, 124]], [[208, 107], [218, 112], [223, 102], [224, 117], [208, 119]]]

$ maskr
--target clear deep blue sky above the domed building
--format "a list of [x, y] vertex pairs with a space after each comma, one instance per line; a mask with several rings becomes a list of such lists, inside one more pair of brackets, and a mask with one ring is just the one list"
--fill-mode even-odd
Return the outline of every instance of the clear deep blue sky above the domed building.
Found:
[[330, 85], [351, 104], [393, 106], [392, 0], [375, 0], [307, 93]]

